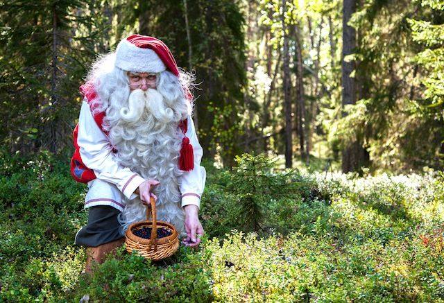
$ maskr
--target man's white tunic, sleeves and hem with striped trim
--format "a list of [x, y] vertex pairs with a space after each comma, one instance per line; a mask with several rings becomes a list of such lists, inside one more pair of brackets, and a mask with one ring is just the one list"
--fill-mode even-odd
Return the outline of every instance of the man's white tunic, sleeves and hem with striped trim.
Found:
[[[200, 146], [194, 123], [188, 116], [188, 129], [185, 134], [193, 146], [194, 168], [185, 171], [178, 179], [180, 193], [182, 193], [182, 207], [197, 205], [200, 208], [200, 197], [205, 187], [206, 171], [200, 166], [203, 149]], [[92, 111], [86, 101], [83, 101], [78, 118], [77, 144], [80, 148], [80, 157], [87, 168], [94, 171], [96, 179], [88, 182], [88, 193], [85, 197], [85, 208], [96, 205], [109, 205], [123, 210], [126, 197], [130, 200], [139, 195], [134, 191], [144, 178], [129, 168], [117, 164], [117, 154], [112, 152], [112, 145], [107, 135], [99, 128]]]

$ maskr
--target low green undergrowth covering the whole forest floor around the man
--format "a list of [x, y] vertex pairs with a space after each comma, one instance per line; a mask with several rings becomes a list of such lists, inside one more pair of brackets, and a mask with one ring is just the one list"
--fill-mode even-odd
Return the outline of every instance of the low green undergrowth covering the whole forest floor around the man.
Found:
[[205, 162], [198, 250], [145, 261], [119, 249], [82, 273], [85, 186], [66, 159], [0, 154], [4, 302], [443, 302], [444, 175], [275, 169], [262, 155]]

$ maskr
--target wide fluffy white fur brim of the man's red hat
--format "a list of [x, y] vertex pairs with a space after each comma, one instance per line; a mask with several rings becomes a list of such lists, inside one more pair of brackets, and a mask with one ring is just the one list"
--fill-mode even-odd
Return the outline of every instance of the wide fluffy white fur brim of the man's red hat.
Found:
[[116, 67], [139, 73], [160, 73], [167, 69], [157, 53], [146, 47], [148, 44], [130, 39], [133, 36], [119, 42], [116, 50]]

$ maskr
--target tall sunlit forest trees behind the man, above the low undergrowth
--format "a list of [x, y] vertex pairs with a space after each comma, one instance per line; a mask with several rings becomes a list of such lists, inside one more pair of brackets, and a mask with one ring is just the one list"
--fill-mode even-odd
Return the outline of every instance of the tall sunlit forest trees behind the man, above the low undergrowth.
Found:
[[[189, 3], [188, 3], [189, 2]], [[78, 87], [130, 33], [195, 71], [205, 157], [344, 171], [443, 168], [441, 1], [6, 1], [0, 140], [71, 147]], [[69, 152], [68, 152], [69, 153]]]

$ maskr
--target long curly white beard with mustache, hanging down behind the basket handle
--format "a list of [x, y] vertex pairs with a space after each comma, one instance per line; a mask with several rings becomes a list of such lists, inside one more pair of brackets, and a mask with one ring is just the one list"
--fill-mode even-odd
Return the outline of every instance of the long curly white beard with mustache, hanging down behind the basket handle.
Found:
[[[180, 207], [178, 157], [182, 135], [178, 123], [184, 116], [183, 105], [173, 108], [155, 89], [133, 91], [128, 105], [111, 105], [107, 110], [110, 141], [118, 150], [117, 161], [146, 180], [160, 182], [153, 190], [157, 196], [157, 220], [175, 225], [185, 235], [185, 213]], [[108, 114], [109, 113], [109, 114]], [[131, 223], [145, 220], [146, 207], [140, 198], [124, 198], [126, 207], [119, 215], [121, 233]]]

